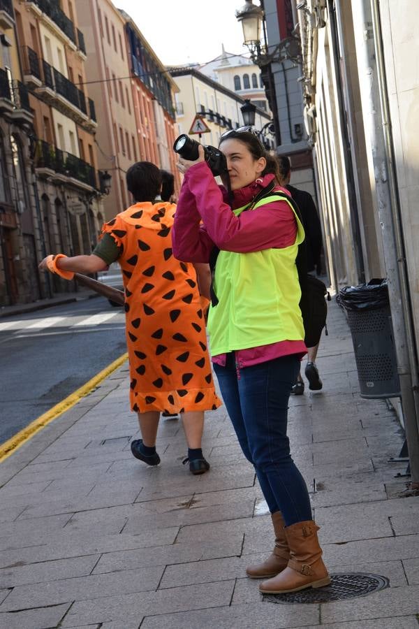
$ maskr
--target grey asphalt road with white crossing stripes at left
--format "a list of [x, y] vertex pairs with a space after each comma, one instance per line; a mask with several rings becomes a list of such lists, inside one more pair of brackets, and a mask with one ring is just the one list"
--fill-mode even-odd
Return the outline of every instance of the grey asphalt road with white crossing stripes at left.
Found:
[[0, 444], [124, 352], [124, 310], [104, 297], [2, 317]]

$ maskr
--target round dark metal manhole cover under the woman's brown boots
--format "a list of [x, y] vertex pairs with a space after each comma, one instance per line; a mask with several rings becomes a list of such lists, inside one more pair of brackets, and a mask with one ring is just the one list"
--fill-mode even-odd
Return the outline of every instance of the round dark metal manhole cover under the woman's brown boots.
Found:
[[330, 574], [330, 579], [332, 579], [332, 583], [324, 588], [309, 588], [288, 594], [264, 594], [263, 600], [279, 604], [330, 602], [344, 598], [355, 598], [356, 596], [367, 596], [372, 592], [388, 588], [388, 579], [377, 574], [360, 574], [357, 572]]

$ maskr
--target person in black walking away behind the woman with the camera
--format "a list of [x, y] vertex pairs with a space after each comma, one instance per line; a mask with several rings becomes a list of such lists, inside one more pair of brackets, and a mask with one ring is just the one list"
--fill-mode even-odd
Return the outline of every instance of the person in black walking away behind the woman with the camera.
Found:
[[[306, 235], [307, 273], [311, 273], [312, 275], [316, 273], [317, 275], [320, 275], [322, 234], [321, 222], [318, 217], [316, 205], [314, 205], [313, 197], [309, 194], [309, 192], [300, 190], [290, 185], [291, 162], [288, 157], [281, 155], [277, 158], [277, 160], [279, 166], [279, 183], [291, 193], [293, 200], [297, 203], [298, 208], [300, 208], [302, 225]], [[324, 299], [321, 301], [324, 303]], [[311, 391], [320, 391], [323, 389], [323, 382], [318, 374], [318, 368], [316, 365], [320, 336], [321, 330], [318, 338], [314, 338], [312, 340], [314, 345], [307, 345], [307, 363], [304, 368], [304, 374], [309, 381], [309, 389]], [[293, 385], [291, 393], [293, 393], [294, 396], [302, 396], [304, 393], [304, 380], [302, 379], [301, 373], [298, 373], [297, 380]]]

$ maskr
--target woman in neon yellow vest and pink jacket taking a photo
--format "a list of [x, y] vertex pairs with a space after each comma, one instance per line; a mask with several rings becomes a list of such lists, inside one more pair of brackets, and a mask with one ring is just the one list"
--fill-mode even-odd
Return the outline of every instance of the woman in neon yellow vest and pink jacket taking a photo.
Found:
[[179, 159], [185, 177], [172, 242], [184, 261], [214, 261], [219, 250], [208, 318], [212, 361], [275, 534], [271, 556], [247, 574], [271, 577], [263, 593], [321, 587], [330, 578], [286, 434], [288, 398], [306, 353], [295, 266], [304, 230], [292, 205], [274, 195], [288, 193], [274, 185], [276, 162], [249, 128], [224, 133], [219, 149], [230, 193], [216, 185], [202, 146], [196, 161]]

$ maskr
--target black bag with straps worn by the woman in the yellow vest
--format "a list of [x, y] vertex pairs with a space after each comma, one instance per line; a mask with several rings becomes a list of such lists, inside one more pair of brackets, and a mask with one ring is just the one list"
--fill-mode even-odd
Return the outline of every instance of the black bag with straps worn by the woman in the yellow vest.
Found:
[[[263, 188], [263, 190], [261, 190], [253, 199], [249, 208], [246, 208], [244, 211], [252, 210], [258, 201], [267, 196], [277, 196], [279, 199], [282, 199], [292, 205], [295, 214], [300, 219], [301, 224], [303, 224], [300, 208], [298, 208], [297, 203], [293, 201], [291, 196], [282, 194], [279, 191], [274, 191], [274, 186], [275, 184], [272, 181], [269, 185], [267, 185], [267, 187]], [[213, 282], [218, 254], [218, 247], [214, 247], [210, 256], [210, 267], [212, 270]], [[307, 247], [304, 240], [300, 245], [298, 245], [295, 265], [297, 266], [298, 280], [301, 288], [300, 310], [302, 322], [304, 324], [304, 343], [306, 347], [314, 347], [318, 344], [321, 338], [323, 328], [325, 328], [325, 333], [328, 335], [328, 328], [326, 327], [328, 305], [325, 301], [325, 297], [327, 297], [328, 301], [331, 301], [331, 298], [325, 283], [318, 280], [318, 278], [314, 277], [314, 275], [307, 273]], [[212, 305], [215, 306], [219, 303], [219, 301], [214, 293], [213, 282], [211, 283], [210, 294]]]

